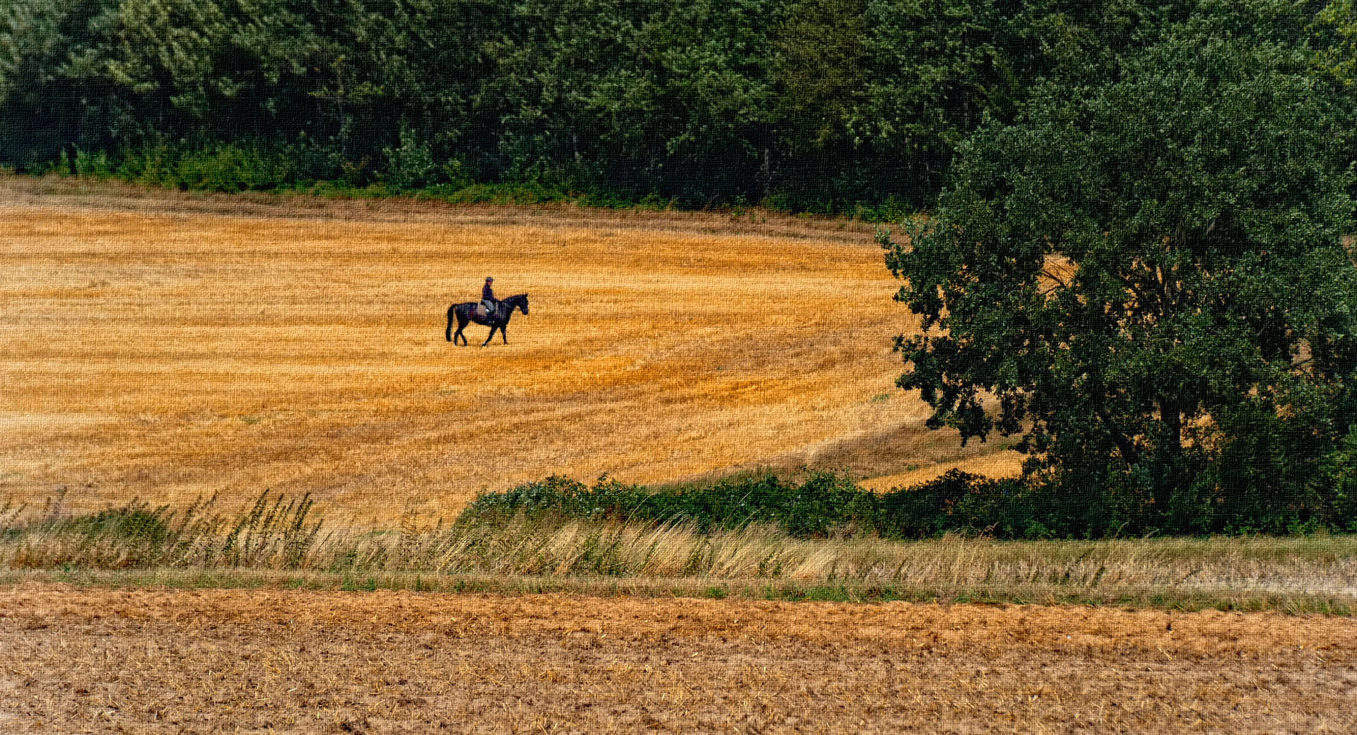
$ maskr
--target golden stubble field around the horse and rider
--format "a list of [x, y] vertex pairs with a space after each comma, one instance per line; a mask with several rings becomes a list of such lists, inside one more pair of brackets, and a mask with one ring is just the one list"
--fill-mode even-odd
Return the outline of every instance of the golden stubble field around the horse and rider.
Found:
[[[129, 191], [0, 183], [0, 498], [391, 525], [552, 473], [1015, 468], [893, 386], [911, 321], [863, 225]], [[486, 275], [531, 313], [445, 342]]]

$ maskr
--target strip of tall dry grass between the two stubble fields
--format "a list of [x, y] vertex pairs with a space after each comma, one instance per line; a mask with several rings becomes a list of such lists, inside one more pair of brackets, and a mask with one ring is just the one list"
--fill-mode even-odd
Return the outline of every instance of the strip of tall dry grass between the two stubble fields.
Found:
[[684, 523], [522, 515], [399, 530], [326, 530], [309, 499], [261, 495], [235, 515], [129, 503], [98, 514], [0, 510], [0, 568], [290, 571], [315, 575], [765, 580], [995, 598], [1273, 595], [1357, 601], [1357, 537], [925, 541], [794, 538], [769, 525], [699, 533]]

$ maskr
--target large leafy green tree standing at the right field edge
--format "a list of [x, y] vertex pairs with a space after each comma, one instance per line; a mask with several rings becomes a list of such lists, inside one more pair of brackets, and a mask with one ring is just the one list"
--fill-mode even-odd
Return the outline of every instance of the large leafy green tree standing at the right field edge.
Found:
[[885, 239], [924, 327], [898, 384], [931, 426], [1019, 437], [1086, 528], [1333, 511], [1323, 468], [1357, 429], [1350, 115], [1304, 28], [1204, 4], [959, 146], [935, 217]]

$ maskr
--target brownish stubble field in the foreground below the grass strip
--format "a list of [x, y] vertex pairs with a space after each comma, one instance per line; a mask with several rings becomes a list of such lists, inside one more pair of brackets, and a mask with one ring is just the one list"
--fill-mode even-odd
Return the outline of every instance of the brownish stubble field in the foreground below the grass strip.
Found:
[[5, 732], [1334, 732], [1357, 625], [1280, 614], [0, 590]]

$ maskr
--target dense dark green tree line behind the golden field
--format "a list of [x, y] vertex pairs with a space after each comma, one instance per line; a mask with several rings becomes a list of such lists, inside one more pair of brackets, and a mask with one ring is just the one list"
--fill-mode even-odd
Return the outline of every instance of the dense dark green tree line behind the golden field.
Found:
[[[1096, 77], [1197, 4], [9, 0], [0, 161], [214, 188], [917, 207], [987, 117]], [[1350, 8], [1295, 22], [1312, 37], [1326, 9], [1326, 68], [1350, 76]]]

